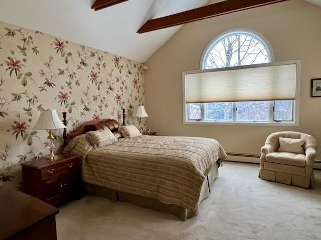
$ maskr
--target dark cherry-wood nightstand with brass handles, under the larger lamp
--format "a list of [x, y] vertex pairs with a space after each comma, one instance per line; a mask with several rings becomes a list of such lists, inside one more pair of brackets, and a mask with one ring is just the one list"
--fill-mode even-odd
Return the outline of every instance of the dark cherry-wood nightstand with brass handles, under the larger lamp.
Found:
[[79, 156], [61, 154], [54, 162], [40, 158], [21, 167], [24, 192], [51, 205], [80, 199], [84, 194]]

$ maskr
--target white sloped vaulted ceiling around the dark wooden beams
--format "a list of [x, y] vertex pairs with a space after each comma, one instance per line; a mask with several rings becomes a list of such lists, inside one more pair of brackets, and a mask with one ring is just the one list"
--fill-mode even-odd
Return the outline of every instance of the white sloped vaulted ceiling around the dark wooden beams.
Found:
[[[144, 34], [148, 19], [201, 7], [208, 0], [130, 0], [93, 11], [95, 0], [1, 0], [0, 21], [145, 62], [180, 26]], [[211, 0], [216, 3], [222, 0]], [[306, 0], [321, 6], [321, 0]]]

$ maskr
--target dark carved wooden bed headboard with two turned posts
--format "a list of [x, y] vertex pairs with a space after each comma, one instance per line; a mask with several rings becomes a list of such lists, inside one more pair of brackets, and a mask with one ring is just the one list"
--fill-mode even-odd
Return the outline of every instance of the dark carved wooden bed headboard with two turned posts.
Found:
[[[121, 109], [122, 110], [122, 126], [126, 125], [126, 113], [125, 113], [125, 109]], [[62, 113], [63, 116], [63, 123], [65, 126], [67, 126], [68, 121], [67, 121], [67, 112], [63, 112]], [[83, 125], [79, 126], [75, 131], [70, 132], [67, 134], [67, 128], [64, 128], [64, 133], [63, 133], [63, 139], [64, 139], [64, 147], [67, 146], [68, 144], [68, 139], [69, 138], [74, 138], [76, 136], [85, 134], [87, 131], [87, 125], [94, 125], [94, 124], [98, 124], [101, 123], [104, 126], [107, 126], [111, 131], [117, 131], [118, 127], [120, 126], [120, 124], [118, 123], [118, 121], [113, 120], [113, 119], [102, 119], [101, 121], [97, 122], [97, 121], [88, 121], [86, 123], [84, 123]]]

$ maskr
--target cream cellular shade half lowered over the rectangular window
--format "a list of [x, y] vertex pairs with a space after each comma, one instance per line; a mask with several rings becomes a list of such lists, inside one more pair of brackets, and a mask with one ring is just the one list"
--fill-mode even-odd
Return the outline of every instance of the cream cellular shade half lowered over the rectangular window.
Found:
[[185, 75], [186, 103], [294, 100], [296, 64]]

